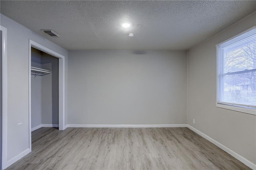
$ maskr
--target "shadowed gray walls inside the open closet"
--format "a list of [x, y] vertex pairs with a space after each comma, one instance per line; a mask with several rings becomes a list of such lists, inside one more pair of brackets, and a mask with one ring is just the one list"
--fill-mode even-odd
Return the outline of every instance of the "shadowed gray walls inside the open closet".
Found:
[[52, 71], [44, 76], [31, 75], [31, 128], [58, 125], [58, 58], [32, 47], [31, 66]]

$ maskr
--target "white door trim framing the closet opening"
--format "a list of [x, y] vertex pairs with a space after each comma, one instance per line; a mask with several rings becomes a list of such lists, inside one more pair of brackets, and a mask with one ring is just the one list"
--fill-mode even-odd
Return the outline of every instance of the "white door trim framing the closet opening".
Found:
[[64, 130], [65, 122], [65, 56], [36, 43], [35, 41], [29, 40], [29, 150], [31, 152], [31, 47], [34, 47], [40, 51], [48, 53], [59, 59], [59, 130]]

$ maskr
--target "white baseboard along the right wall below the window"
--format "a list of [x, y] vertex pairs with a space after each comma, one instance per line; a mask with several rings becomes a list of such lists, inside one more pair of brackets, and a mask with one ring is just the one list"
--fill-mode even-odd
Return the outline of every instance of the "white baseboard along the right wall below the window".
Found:
[[230, 154], [231, 156], [234, 156], [234, 158], [240, 160], [242, 163], [244, 163], [246, 166], [249, 166], [250, 168], [252, 168], [253, 170], [256, 170], [256, 164], [254, 164], [253, 162], [250, 162], [250, 160], [247, 160], [246, 158], [244, 158], [243, 156], [241, 156], [240, 154], [234, 152], [233, 150], [229, 149], [228, 147], [225, 147], [224, 145], [222, 145], [221, 143], [219, 143], [218, 141], [215, 141], [214, 139], [212, 139], [211, 137], [207, 136], [206, 134], [202, 133], [201, 131], [198, 131], [196, 128], [187, 125], [189, 129], [191, 129], [192, 131], [194, 131], [195, 133], [197, 133], [198, 135], [204, 137], [205, 139], [207, 139], [208, 141], [210, 141], [211, 143], [213, 143], [214, 145], [216, 145], [217, 147], [219, 147], [220, 149], [224, 150], [225, 152], [227, 152], [228, 154]]

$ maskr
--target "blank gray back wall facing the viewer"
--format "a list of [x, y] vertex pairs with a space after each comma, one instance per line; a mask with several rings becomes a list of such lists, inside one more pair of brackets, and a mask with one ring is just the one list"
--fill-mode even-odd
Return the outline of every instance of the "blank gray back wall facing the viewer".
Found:
[[186, 124], [186, 51], [68, 55], [68, 124]]

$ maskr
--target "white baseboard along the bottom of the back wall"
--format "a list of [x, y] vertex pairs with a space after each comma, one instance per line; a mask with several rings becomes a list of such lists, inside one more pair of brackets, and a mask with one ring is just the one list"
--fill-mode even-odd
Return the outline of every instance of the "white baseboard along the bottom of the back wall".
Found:
[[66, 125], [65, 127], [187, 127], [187, 124], [166, 124], [166, 125]]

